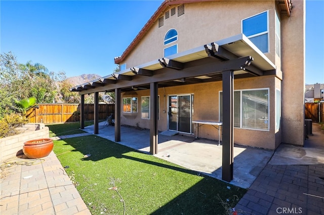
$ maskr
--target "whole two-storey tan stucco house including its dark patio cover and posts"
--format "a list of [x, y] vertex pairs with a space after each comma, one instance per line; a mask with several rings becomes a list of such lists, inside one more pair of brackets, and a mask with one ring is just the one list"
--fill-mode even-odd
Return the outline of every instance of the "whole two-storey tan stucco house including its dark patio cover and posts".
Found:
[[81, 109], [85, 94], [115, 92], [115, 141], [120, 125], [147, 128], [155, 154], [158, 131], [221, 122], [199, 137], [221, 138], [226, 181], [234, 143], [304, 144], [305, 1], [167, 0], [114, 61], [119, 72], [71, 90]]

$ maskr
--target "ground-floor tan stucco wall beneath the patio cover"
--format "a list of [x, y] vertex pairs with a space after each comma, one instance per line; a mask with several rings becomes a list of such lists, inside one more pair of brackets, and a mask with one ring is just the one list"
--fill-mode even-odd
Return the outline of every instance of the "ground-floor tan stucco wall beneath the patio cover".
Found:
[[[280, 141], [280, 137], [275, 136], [275, 82], [274, 76], [255, 77], [234, 80], [234, 90], [269, 88], [269, 131], [234, 128], [234, 142], [241, 145], [250, 145], [268, 149], [275, 149]], [[253, 86], [253, 87], [251, 87]], [[168, 95], [194, 94], [194, 114], [193, 120], [214, 120], [219, 121], [219, 91], [222, 90], [222, 82], [210, 82], [204, 84], [191, 84], [177, 87], [165, 87], [158, 89], [159, 95], [159, 120], [158, 130], [168, 129]], [[149, 129], [150, 121], [141, 119], [141, 96], [149, 96], [149, 90], [137, 90], [137, 95], [122, 95], [122, 97], [138, 97], [138, 113], [121, 114], [121, 124], [131, 125]], [[165, 95], [165, 96], [164, 96]], [[164, 113], [164, 110], [166, 111]], [[217, 139], [218, 132], [212, 126], [204, 126], [199, 129], [199, 137]]]

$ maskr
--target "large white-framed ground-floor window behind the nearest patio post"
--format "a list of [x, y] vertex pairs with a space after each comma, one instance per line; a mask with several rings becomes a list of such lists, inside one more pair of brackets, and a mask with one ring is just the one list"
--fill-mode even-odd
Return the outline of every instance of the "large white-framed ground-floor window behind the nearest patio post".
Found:
[[[223, 121], [223, 93], [219, 94]], [[234, 91], [234, 127], [269, 130], [269, 89]]]

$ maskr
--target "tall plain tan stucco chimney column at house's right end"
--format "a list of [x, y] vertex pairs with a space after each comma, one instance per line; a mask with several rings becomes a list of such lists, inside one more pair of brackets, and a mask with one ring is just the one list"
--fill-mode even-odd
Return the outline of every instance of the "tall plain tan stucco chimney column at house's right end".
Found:
[[281, 16], [282, 142], [303, 145], [305, 1], [293, 5], [290, 18]]

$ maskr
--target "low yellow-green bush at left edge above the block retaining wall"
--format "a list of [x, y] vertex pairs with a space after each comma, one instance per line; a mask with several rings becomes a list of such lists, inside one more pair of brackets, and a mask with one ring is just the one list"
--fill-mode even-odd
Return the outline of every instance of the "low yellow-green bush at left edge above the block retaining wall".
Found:
[[13, 136], [18, 134], [16, 128], [25, 125], [28, 122], [26, 117], [21, 114], [7, 114], [0, 119], [0, 138]]

